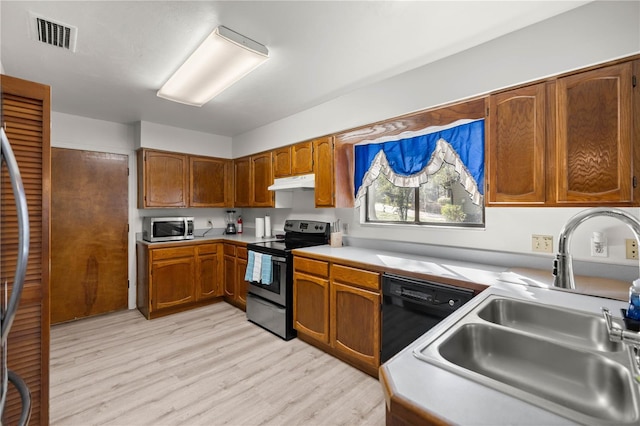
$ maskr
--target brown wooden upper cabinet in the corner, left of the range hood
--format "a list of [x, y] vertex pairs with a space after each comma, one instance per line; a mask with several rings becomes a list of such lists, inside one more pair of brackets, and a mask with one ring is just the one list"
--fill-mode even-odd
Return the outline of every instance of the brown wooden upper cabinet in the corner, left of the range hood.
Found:
[[273, 207], [272, 152], [263, 152], [234, 160], [235, 207]]

